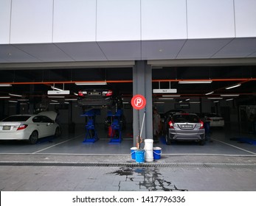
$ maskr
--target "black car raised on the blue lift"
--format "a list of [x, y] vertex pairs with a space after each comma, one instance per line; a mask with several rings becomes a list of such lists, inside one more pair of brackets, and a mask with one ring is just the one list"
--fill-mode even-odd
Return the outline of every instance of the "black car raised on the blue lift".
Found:
[[78, 90], [77, 104], [83, 109], [122, 108], [122, 97], [109, 88], [82, 88]]

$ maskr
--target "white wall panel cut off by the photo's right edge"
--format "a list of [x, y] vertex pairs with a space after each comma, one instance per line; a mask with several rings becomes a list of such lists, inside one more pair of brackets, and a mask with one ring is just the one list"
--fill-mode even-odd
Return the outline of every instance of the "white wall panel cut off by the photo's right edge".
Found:
[[235, 0], [236, 37], [256, 37], [256, 1]]

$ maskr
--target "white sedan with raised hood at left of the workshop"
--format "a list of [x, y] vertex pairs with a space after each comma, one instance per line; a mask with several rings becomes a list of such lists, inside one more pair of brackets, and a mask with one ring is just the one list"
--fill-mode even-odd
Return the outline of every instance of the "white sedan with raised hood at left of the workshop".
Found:
[[61, 133], [60, 125], [55, 122], [57, 113], [42, 112], [37, 115], [14, 115], [0, 121], [0, 140], [22, 140], [31, 144], [39, 138]]

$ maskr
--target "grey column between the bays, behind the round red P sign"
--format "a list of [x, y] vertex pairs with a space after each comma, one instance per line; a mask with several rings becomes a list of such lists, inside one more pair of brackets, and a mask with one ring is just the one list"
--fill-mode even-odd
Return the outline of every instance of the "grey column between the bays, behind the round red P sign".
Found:
[[[152, 68], [151, 65], [147, 65], [147, 61], [136, 61], [133, 68], [133, 81], [133, 96], [141, 94], [147, 101], [144, 109], [133, 109], [134, 146], [136, 146], [136, 137], [140, 135], [141, 129], [142, 138], [153, 139]], [[144, 114], [145, 120], [142, 128]]]

